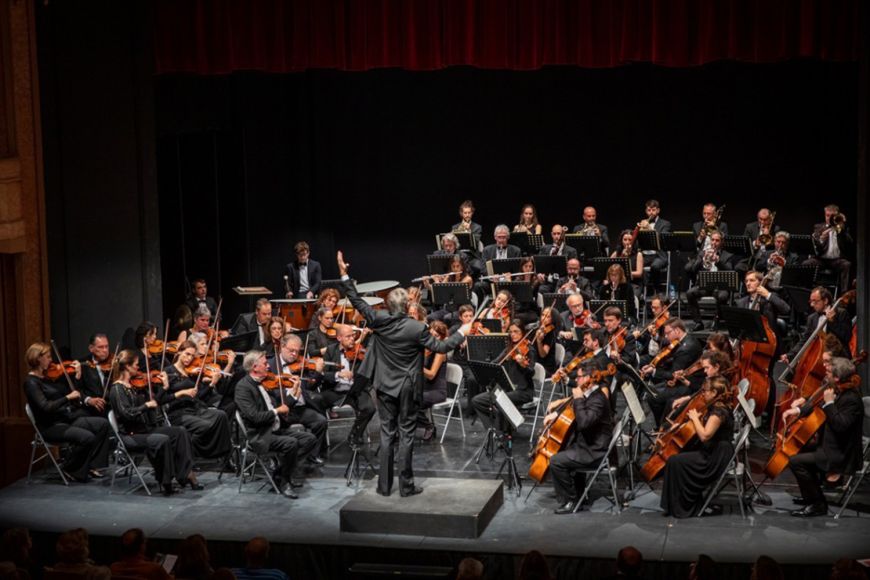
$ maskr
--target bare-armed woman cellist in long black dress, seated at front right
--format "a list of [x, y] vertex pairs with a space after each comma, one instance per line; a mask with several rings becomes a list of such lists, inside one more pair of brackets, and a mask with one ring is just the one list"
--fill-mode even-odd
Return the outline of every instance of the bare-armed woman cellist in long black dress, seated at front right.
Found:
[[697, 432], [697, 447], [673, 455], [665, 464], [661, 506], [665, 515], [688, 518], [704, 501], [704, 490], [728, 467], [734, 453], [734, 418], [728, 401], [731, 384], [725, 377], [708, 379], [701, 387], [707, 411], [689, 409]]

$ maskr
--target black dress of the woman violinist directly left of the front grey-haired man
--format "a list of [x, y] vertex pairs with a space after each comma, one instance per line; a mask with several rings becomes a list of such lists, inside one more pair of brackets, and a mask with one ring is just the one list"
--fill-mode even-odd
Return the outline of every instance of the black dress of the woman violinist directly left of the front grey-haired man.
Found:
[[[173, 365], [166, 369], [169, 392], [177, 393], [194, 386], [194, 379], [181, 374]], [[220, 395], [208, 385], [200, 383], [196, 397], [181, 397], [169, 403], [167, 412], [173, 425], [180, 425], [190, 433], [190, 443], [196, 457], [214, 458], [229, 453], [230, 422], [227, 414], [209, 406], [220, 403]]]

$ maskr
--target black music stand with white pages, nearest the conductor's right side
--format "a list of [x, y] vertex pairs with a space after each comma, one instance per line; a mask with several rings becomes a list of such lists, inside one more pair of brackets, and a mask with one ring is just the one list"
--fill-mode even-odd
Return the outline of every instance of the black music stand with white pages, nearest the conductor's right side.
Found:
[[[511, 382], [510, 377], [507, 374], [507, 369], [500, 364], [469, 360], [468, 368], [471, 371], [471, 374], [474, 375], [477, 384], [484, 386], [492, 395], [492, 404], [489, 407], [489, 413], [490, 416], [493, 417], [493, 426], [486, 430], [483, 444], [477, 450], [477, 453], [474, 456], [474, 461], [475, 463], [479, 463], [480, 458], [484, 453], [486, 453], [486, 456], [492, 460], [495, 458], [495, 453], [498, 447], [504, 449], [505, 458], [498, 470], [498, 474], [496, 474], [496, 479], [500, 478], [502, 472], [507, 469], [508, 489], [516, 488], [517, 495], [519, 495], [523, 484], [520, 481], [519, 470], [517, 470], [517, 464], [513, 457], [513, 437], [511, 436], [511, 431], [505, 429], [503, 423], [506, 415], [514, 413], [519, 414], [519, 411], [517, 411], [517, 408], [510, 403], [510, 400], [505, 401], [506, 397], [502, 399], [501, 397], [498, 397], [496, 393], [499, 389], [505, 393], [510, 393], [516, 387]], [[513, 409], [502, 407], [502, 405], [507, 404], [510, 404]], [[498, 407], [499, 410], [498, 414], [495, 412], [496, 407]], [[520, 417], [520, 424], [522, 424], [522, 417]], [[519, 425], [514, 424], [514, 428], [518, 426]]]

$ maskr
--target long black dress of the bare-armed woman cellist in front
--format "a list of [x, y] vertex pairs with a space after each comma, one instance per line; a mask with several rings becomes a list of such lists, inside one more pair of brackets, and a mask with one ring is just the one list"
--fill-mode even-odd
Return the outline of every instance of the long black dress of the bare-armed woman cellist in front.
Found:
[[734, 453], [734, 419], [731, 411], [716, 404], [703, 422], [716, 415], [721, 424], [709, 441], [699, 443], [694, 451], [684, 451], [668, 459], [662, 488], [662, 509], [675, 518], [688, 518], [698, 513], [704, 501], [704, 490], [714, 483]]

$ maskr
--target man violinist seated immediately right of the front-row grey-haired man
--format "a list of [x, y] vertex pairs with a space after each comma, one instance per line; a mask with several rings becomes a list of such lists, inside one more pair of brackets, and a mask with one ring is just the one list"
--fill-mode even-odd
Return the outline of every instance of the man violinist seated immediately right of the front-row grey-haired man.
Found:
[[[332, 315], [332, 311], [327, 310], [326, 312], [330, 316]], [[284, 419], [289, 425], [299, 423], [311, 432], [315, 438], [315, 443], [307, 460], [309, 463], [322, 465], [323, 460], [320, 459], [320, 454], [326, 452], [324, 442], [326, 441], [327, 421], [325, 404], [322, 396], [317, 392], [317, 387], [323, 378], [324, 359], [308, 359], [308, 363], [314, 368], [302, 369], [303, 348], [302, 339], [297, 335], [284, 336], [281, 339], [278, 360], [275, 360], [274, 356], [271, 357], [269, 370], [283, 375], [296, 375], [295, 380], [291, 379], [292, 384], [284, 385], [284, 400], [290, 407], [290, 412]], [[273, 392], [272, 396], [275, 399], [280, 399], [280, 394]]]

